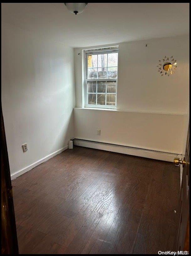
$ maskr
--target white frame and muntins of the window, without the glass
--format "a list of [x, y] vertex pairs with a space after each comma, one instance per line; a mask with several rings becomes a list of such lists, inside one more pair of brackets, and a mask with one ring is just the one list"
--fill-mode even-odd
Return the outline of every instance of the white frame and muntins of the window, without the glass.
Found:
[[[116, 106], [117, 106], [117, 85], [118, 85], [118, 70], [119, 70], [119, 65], [117, 63], [117, 78], [116, 79], [112, 79], [112, 78], [106, 78], [106, 79], [88, 79], [88, 55], [97, 55], [98, 53], [101, 53], [101, 54], [106, 54], [106, 53], [114, 53], [114, 52], [117, 52], [118, 53], [118, 59], [119, 59], [119, 48], [114, 48], [114, 49], [103, 49], [103, 50], [88, 50], [88, 51], [84, 51], [84, 102], [85, 102], [85, 107], [88, 107], [88, 108], [106, 108], [106, 109], [116, 109]], [[107, 61], [108, 61], [108, 58], [107, 58]], [[107, 67], [108, 68], [108, 67]], [[109, 67], [109, 68], [112, 68], [112, 67]], [[88, 82], [96, 82], [96, 81], [99, 81], [99, 82], [115, 82], [116, 81], [116, 93], [115, 93], [115, 105], [114, 106], [111, 106], [111, 105], [92, 105], [92, 104], [88, 104], [88, 88], [87, 88], [87, 84]], [[97, 88], [97, 86], [96, 86]], [[97, 91], [97, 89], [96, 89]], [[98, 94], [103, 94], [103, 93], [98, 93], [96, 92], [96, 95]], [[107, 93], [107, 84], [106, 84], [106, 97], [105, 99], [107, 99], [107, 94], [114, 94], [114, 93]], [[97, 99], [97, 97], [96, 97]]]

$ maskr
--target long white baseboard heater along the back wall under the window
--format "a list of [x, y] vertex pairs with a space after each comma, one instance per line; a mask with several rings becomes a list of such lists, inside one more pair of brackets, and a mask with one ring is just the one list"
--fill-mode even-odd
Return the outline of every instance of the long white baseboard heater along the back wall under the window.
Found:
[[106, 151], [111, 151], [116, 153], [127, 154], [127, 155], [141, 156], [141, 157], [168, 161], [168, 162], [173, 162], [174, 158], [178, 156], [178, 154], [173, 154], [173, 153], [126, 147], [126, 146], [107, 144], [107, 143], [95, 142], [95, 141], [89, 141], [89, 140], [83, 140], [83, 139], [74, 139], [73, 142], [74, 142], [74, 145], [77, 145], [77, 146], [99, 149], [99, 150], [106, 150]]

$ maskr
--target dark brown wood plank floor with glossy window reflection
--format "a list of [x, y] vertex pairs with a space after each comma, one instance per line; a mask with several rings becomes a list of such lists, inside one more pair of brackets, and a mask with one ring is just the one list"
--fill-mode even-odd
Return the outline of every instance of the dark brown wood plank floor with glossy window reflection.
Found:
[[19, 253], [174, 250], [179, 168], [74, 147], [12, 181]]

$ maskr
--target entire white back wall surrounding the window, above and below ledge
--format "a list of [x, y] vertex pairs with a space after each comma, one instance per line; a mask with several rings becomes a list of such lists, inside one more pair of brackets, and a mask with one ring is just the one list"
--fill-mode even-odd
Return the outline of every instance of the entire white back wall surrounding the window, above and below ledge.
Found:
[[[189, 103], [189, 37], [118, 45], [117, 111], [82, 108], [84, 48], [74, 51], [75, 138], [184, 153]], [[178, 68], [170, 77], [161, 77], [157, 72], [158, 60], [165, 55], [177, 59]], [[101, 136], [96, 135], [97, 128], [101, 128]]]

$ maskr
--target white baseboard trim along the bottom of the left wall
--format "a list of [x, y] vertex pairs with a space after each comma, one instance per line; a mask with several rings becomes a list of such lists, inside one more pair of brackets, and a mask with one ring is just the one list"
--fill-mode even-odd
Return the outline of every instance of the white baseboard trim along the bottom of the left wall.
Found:
[[11, 180], [13, 179], [16, 179], [17, 177], [19, 177], [20, 175], [24, 174], [25, 172], [28, 172], [30, 171], [31, 169], [33, 169], [34, 167], [44, 163], [45, 161], [49, 160], [50, 158], [52, 158], [53, 156], [55, 155], [58, 155], [60, 154], [61, 152], [63, 152], [64, 150], [68, 149], [68, 145], [59, 149], [59, 150], [56, 150], [54, 151], [53, 153], [49, 154], [49, 155], [46, 155], [45, 157], [41, 158], [40, 160], [32, 163], [31, 165], [28, 165], [26, 167], [24, 167], [23, 169], [17, 171], [17, 172], [14, 172], [13, 174], [11, 174]]

